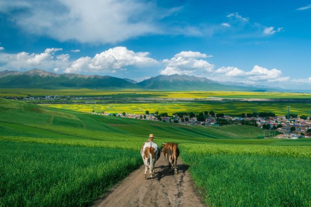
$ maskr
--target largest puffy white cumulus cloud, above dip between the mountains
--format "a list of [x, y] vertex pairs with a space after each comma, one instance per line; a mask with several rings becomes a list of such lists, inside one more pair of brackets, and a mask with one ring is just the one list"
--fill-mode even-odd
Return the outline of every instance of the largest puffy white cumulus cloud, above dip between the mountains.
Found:
[[74, 60], [66, 68], [65, 73], [77, 72], [112, 72], [124, 70], [126, 66], [151, 66], [158, 63], [157, 60], [148, 57], [148, 52], [138, 52], [128, 50], [126, 47], [114, 47], [100, 54], [91, 57], [80, 57]]

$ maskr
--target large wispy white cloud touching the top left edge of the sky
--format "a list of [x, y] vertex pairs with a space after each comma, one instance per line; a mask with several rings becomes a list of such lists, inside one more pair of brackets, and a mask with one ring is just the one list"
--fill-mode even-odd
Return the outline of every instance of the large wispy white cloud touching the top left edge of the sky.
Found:
[[160, 20], [181, 9], [161, 8], [153, 1], [140, 0], [0, 0], [0, 13], [24, 31], [83, 43], [114, 43], [146, 34], [172, 34], [176, 25], [165, 25]]

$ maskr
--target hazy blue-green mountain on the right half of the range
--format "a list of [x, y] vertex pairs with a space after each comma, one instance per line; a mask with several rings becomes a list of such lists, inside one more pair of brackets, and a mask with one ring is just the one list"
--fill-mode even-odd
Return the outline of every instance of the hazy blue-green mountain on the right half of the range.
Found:
[[254, 91], [261, 88], [248, 86], [246, 84], [233, 85], [213, 81], [205, 77], [189, 75], [158, 75], [138, 83], [139, 86], [154, 90], [193, 90], [193, 91]]

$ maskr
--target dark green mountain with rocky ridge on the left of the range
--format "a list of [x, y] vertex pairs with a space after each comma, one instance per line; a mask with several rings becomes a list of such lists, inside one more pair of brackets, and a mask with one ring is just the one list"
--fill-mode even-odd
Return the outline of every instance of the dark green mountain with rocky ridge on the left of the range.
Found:
[[0, 72], [0, 88], [138, 88], [122, 78], [101, 75], [55, 74], [34, 69]]

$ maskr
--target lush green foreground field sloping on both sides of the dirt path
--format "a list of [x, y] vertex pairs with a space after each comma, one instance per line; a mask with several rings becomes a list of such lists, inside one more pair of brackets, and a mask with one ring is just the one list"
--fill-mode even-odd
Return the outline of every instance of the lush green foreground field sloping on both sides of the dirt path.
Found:
[[149, 133], [157, 144], [179, 143], [207, 206], [311, 206], [311, 140], [250, 139], [250, 132], [263, 131], [0, 99], [0, 206], [90, 206], [142, 164]]

